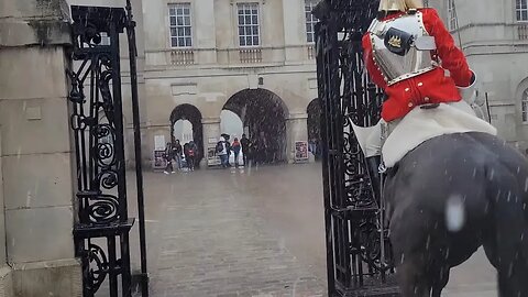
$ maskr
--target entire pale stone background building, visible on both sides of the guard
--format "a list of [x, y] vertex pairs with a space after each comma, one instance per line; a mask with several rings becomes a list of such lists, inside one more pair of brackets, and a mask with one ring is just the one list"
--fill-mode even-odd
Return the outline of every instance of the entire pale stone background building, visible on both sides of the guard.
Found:
[[[492, 123], [522, 151], [528, 147], [528, 69], [524, 67], [528, 59], [527, 1], [429, 1], [476, 72], [480, 96], [487, 96]], [[292, 161], [295, 142], [308, 140], [307, 110], [317, 97], [316, 20], [307, 13], [317, 2], [134, 1], [136, 10], [141, 7], [136, 18], [144, 162], [152, 160], [156, 135], [170, 140], [175, 120], [190, 120], [195, 139], [207, 151], [221, 133], [222, 110], [235, 112], [244, 125], [252, 124], [249, 118], [272, 117], [244, 110], [244, 101], [264, 97], [273, 97], [284, 113], [280, 119], [272, 117], [272, 122], [284, 121], [285, 125], [284, 135], [267, 136], [277, 138], [283, 158]], [[486, 106], [483, 111], [487, 113]], [[125, 114], [125, 120], [131, 117]], [[258, 123], [271, 124], [253, 124]], [[252, 134], [258, 136], [256, 130]], [[133, 150], [129, 148], [131, 160]]]

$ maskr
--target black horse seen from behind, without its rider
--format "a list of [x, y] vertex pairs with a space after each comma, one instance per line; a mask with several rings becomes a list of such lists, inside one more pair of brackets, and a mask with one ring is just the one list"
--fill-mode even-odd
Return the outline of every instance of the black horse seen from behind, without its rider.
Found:
[[426, 141], [387, 170], [383, 195], [403, 296], [439, 297], [450, 268], [483, 245], [499, 296], [528, 297], [528, 161], [505, 141]]

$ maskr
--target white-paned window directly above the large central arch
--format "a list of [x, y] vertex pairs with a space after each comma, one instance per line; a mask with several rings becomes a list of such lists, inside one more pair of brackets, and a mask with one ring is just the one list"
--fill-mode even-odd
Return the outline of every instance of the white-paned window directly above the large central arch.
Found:
[[240, 46], [260, 45], [258, 3], [239, 3], [238, 10]]

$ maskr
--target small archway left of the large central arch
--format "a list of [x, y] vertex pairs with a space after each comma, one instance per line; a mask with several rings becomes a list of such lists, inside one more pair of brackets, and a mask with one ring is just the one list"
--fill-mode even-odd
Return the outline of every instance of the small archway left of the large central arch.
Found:
[[[186, 134], [188, 134], [186, 133], [186, 130], [188, 130], [186, 128], [187, 122], [190, 123], [193, 127], [193, 141], [198, 146], [198, 155], [196, 156], [196, 164], [198, 165], [204, 158], [204, 127], [201, 124], [201, 112], [198, 110], [198, 108], [191, 105], [180, 105], [173, 110], [173, 112], [170, 113], [172, 142], [175, 142], [177, 139], [175, 138], [175, 134], [180, 134], [182, 136], [186, 136]], [[185, 140], [180, 141], [182, 145], [186, 143]]]

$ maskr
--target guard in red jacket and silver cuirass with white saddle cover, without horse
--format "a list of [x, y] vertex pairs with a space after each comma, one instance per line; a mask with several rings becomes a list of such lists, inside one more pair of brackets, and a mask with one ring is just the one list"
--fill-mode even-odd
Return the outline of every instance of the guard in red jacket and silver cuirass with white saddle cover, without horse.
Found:
[[470, 106], [476, 76], [435, 9], [424, 8], [421, 0], [382, 0], [362, 44], [366, 69], [387, 96], [377, 125], [354, 127], [371, 169], [377, 168], [381, 154], [392, 167], [442, 134], [496, 135]]

